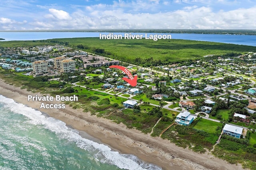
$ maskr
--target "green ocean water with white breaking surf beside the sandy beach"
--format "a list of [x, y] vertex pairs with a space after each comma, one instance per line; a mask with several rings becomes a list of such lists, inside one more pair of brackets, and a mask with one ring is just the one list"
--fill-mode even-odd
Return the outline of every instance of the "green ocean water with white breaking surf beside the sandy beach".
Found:
[[63, 121], [0, 95], [1, 170], [160, 170], [85, 139]]

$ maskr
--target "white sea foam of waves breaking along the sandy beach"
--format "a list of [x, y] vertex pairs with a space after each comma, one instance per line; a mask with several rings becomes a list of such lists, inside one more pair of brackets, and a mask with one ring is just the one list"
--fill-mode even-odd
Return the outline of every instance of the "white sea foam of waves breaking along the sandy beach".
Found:
[[31, 120], [31, 123], [44, 125], [46, 129], [55, 132], [59, 137], [68, 139], [69, 141], [74, 141], [81, 149], [93, 152], [95, 160], [99, 160], [102, 163], [113, 164], [119, 168], [128, 170], [161, 170], [159, 166], [144, 162], [137, 156], [130, 154], [122, 155], [111, 150], [110, 147], [106, 145], [84, 139], [78, 134], [78, 131], [67, 127], [66, 123], [63, 121], [53, 117], [45, 117], [40, 111], [26, 107], [23, 104], [16, 103], [10, 98], [0, 95], [0, 102], [3, 102], [5, 107], [10, 108], [11, 111], [28, 117]]

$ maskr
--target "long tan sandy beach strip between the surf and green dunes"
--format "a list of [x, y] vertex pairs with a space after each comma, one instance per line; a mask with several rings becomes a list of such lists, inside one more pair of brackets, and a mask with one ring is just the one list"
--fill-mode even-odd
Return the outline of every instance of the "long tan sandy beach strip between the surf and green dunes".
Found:
[[[228, 164], [210, 153], [199, 154], [177, 147], [168, 140], [151, 137], [136, 129], [128, 129], [123, 124], [116, 124], [108, 119], [84, 113], [80, 109], [72, 109], [67, 105], [65, 109], [39, 109], [41, 102], [28, 102], [28, 95], [35, 95], [34, 93], [6, 84], [4, 80], [0, 80], [0, 94], [60, 119], [74, 129], [84, 131], [100, 140], [113, 150], [124, 154], [134, 154], [142, 160], [161, 166], [164, 170], [243, 169], [241, 165]], [[38, 96], [43, 95], [38, 94]]]

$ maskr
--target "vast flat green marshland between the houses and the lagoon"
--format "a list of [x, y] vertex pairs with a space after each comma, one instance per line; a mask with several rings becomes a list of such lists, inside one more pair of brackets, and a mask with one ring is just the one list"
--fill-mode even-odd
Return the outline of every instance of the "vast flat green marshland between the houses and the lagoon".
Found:
[[[198, 59], [205, 55], [222, 55], [226, 53], [244, 53], [256, 51], [256, 47], [246, 45], [233, 45], [225, 43], [214, 43], [205, 41], [191, 41], [181, 39], [160, 39], [151, 41], [146, 39], [99, 39], [94, 38], [66, 38], [53, 39], [55, 41], [69, 42], [70, 47], [77, 45], [86, 46], [85, 51], [92, 49], [104, 49], [108, 57], [121, 61], [135, 62], [138, 54], [141, 60], [154, 59], [154, 61], [181, 61], [187, 59]], [[36, 45], [54, 45], [50, 40], [40, 41], [2, 41], [0, 47], [27, 47]], [[150, 54], [150, 55], [148, 55]], [[138, 63], [138, 62], [137, 62]], [[140, 64], [140, 63], [138, 63]]]

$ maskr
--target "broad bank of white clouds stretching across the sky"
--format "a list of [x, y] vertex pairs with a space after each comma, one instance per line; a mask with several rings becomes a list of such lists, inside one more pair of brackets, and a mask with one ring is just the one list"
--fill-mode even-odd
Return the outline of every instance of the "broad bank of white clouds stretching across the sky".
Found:
[[[0, 29], [255, 29], [256, 6], [227, 10], [204, 2], [214, 1], [116, 0], [112, 5], [79, 5], [69, 10], [57, 10], [55, 4], [37, 6], [42, 11], [30, 15], [33, 20], [3, 16]], [[230, 0], [219, 0], [227, 2]]]

